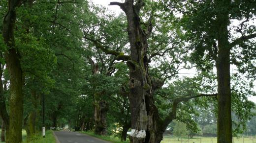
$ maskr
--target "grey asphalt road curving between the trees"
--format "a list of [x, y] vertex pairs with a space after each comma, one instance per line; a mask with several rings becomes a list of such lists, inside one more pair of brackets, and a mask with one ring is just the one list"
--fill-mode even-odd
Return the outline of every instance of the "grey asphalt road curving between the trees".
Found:
[[59, 131], [55, 135], [59, 143], [110, 143], [78, 132]]

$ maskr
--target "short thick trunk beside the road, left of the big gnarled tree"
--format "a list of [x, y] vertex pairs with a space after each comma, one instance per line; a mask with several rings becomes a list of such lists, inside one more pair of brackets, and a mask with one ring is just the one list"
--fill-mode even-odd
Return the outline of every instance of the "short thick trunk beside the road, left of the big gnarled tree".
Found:
[[108, 103], [106, 101], [95, 100], [95, 133], [98, 135], [106, 135], [106, 116], [108, 111]]

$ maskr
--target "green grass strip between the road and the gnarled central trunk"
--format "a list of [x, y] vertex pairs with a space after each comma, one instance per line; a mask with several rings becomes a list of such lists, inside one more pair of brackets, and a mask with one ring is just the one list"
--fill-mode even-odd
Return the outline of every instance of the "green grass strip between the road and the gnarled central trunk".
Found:
[[121, 142], [121, 139], [118, 138], [118, 137], [115, 138], [114, 136], [100, 136], [100, 135], [94, 134], [94, 132], [92, 132], [92, 131], [80, 132], [80, 133], [87, 134], [87, 135], [99, 138], [99, 139], [104, 140], [104, 141], [109, 141], [109, 142], [112, 142], [112, 143], [129, 143], [129, 141], [128, 141], [129, 139], [127, 139], [126, 142]]

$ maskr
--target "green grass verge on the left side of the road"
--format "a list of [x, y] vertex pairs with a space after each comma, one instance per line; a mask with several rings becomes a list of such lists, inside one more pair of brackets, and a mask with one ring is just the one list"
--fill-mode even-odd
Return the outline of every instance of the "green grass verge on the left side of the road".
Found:
[[[0, 134], [1, 134], [1, 131], [0, 131]], [[27, 143], [26, 136], [27, 136], [26, 131], [22, 130], [23, 143]], [[5, 142], [1, 142], [1, 143], [5, 143]], [[47, 130], [45, 132], [45, 138], [42, 137], [42, 133], [40, 132], [34, 135], [32, 137], [32, 141], [29, 143], [56, 143], [56, 142], [55, 142], [55, 137], [53, 135], [53, 131]]]

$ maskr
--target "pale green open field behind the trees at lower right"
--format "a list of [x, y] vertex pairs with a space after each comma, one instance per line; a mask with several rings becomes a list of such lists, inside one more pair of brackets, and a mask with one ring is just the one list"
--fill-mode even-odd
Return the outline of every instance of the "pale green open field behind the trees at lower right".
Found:
[[[174, 138], [173, 136], [164, 136], [163, 141], [161, 143], [217, 143], [216, 137], [193, 137], [192, 139], [181, 138], [178, 141], [178, 138]], [[233, 138], [233, 143], [256, 143], [256, 138]]]

